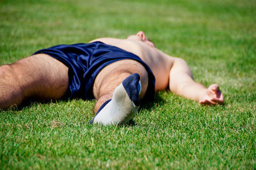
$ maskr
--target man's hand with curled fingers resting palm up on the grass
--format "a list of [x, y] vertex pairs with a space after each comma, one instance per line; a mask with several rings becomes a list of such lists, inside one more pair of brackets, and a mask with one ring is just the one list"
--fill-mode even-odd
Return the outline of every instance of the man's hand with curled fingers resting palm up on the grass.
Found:
[[212, 84], [207, 88], [205, 94], [203, 95], [202, 99], [199, 100], [200, 104], [205, 105], [216, 105], [216, 104], [223, 104], [224, 97], [220, 91], [220, 87], [218, 84]]

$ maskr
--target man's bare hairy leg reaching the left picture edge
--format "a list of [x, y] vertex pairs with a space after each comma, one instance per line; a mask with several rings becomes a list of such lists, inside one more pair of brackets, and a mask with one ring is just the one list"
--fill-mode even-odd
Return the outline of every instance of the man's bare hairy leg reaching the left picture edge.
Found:
[[68, 68], [45, 54], [0, 66], [0, 109], [35, 98], [55, 100], [68, 88]]

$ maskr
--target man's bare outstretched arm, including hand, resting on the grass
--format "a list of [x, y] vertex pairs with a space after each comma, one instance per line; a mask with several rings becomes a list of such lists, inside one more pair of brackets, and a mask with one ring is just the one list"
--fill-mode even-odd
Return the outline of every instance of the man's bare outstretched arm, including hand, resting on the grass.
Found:
[[175, 58], [170, 71], [170, 90], [182, 97], [196, 100], [200, 104], [223, 104], [224, 98], [218, 84], [212, 84], [205, 88], [202, 84], [193, 80], [193, 75], [188, 64], [180, 58]]

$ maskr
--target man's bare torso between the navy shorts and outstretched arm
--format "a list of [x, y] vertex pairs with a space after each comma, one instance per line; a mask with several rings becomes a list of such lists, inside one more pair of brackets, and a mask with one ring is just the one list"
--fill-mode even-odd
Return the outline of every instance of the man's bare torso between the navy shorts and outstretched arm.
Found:
[[[144, 61], [152, 70], [156, 78], [156, 91], [164, 90], [169, 85], [169, 73], [172, 68], [174, 58], [164, 54], [160, 50], [149, 47], [147, 44], [138, 40], [116, 39], [116, 38], [99, 38], [92, 42], [103, 42], [108, 45], [119, 47], [136, 54]], [[116, 66], [116, 65], [115, 65]], [[111, 65], [109, 65], [111, 67]]]

